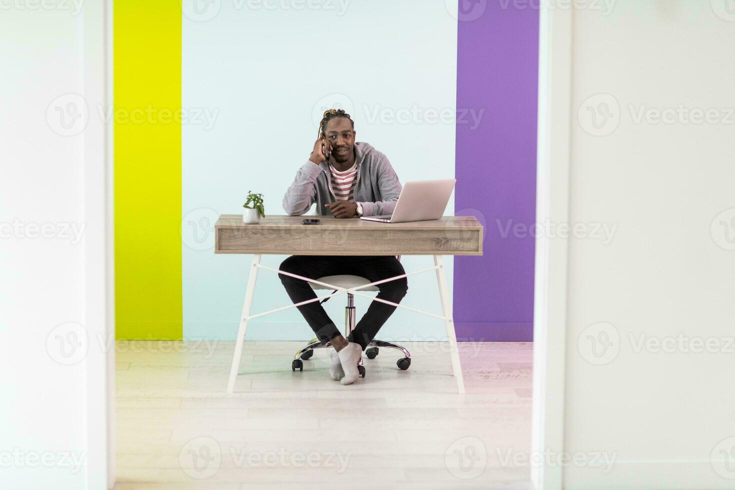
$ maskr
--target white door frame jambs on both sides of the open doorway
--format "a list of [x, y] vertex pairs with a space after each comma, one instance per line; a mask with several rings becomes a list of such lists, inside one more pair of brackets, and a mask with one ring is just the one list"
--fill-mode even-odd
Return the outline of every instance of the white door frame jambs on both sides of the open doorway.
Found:
[[[537, 223], [568, 223], [573, 12], [542, 2], [539, 21]], [[90, 115], [112, 104], [112, 2], [87, 0], [84, 93]], [[84, 132], [87, 489], [115, 485], [115, 336], [112, 127], [89, 119]], [[564, 449], [567, 239], [539, 237], [534, 286], [534, 401], [531, 450]], [[114, 344], [112, 344], [114, 345]], [[562, 468], [534, 467], [537, 489], [562, 489]]]

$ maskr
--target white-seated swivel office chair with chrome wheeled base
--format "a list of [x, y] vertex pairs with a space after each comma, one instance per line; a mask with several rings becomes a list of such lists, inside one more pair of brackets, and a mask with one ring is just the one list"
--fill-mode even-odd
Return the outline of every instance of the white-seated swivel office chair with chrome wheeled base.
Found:
[[[398, 256], [398, 260], [401, 260], [401, 256]], [[359, 275], [326, 275], [323, 278], [317, 278], [317, 281], [326, 282], [329, 284], [334, 284], [335, 286], [339, 287], [358, 287], [362, 286], [363, 284], [370, 284], [371, 281], [368, 281], [367, 278], [361, 277]], [[330, 289], [329, 287], [322, 286], [321, 284], [315, 284], [313, 282], [310, 282], [309, 285], [312, 287], [312, 289]], [[379, 291], [380, 289], [377, 286], [370, 286], [365, 289], [360, 289], [361, 291]], [[335, 289], [332, 291], [331, 294], [334, 294], [337, 292]], [[326, 300], [329, 300], [329, 298], [324, 298], [320, 301], [320, 303], [324, 303]], [[354, 295], [351, 293], [347, 293], [347, 306], [345, 306], [345, 339], [350, 334], [351, 331], [353, 331], [355, 328], [355, 306], [354, 306]], [[314, 355], [315, 349], [321, 349], [324, 347], [331, 347], [331, 342], [327, 342], [326, 345], [322, 345], [321, 342], [319, 342], [319, 339], [314, 337], [313, 339], [309, 340], [309, 343], [306, 344], [306, 347], [299, 350], [296, 355], [294, 356], [293, 362], [291, 363], [291, 370], [304, 370], [304, 363], [302, 361], [306, 361], [307, 359], [311, 359], [311, 357]], [[365, 349], [365, 355], [368, 356], [368, 359], [375, 359], [376, 356], [379, 353], [380, 347], [386, 347], [388, 349], [396, 349], [400, 350], [401, 353], [404, 354], [404, 357], [401, 359], [398, 359], [398, 361], [395, 363], [398, 366], [398, 369], [400, 370], [407, 370], [409, 366], [411, 366], [411, 353], [409, 353], [406, 348], [401, 347], [401, 345], [393, 344], [392, 342], [385, 342], [383, 340], [375, 340], [373, 339], [372, 342], [370, 342], [370, 345], [368, 345], [368, 348]], [[361, 378], [365, 378], [365, 366], [362, 364], [362, 356], [360, 356], [359, 364], [357, 365], [357, 370], [360, 373]]]

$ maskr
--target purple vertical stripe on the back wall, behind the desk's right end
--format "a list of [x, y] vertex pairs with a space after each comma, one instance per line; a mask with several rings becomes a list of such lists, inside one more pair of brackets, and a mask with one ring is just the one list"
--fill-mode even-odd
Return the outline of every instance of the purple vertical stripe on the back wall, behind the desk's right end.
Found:
[[[531, 341], [534, 239], [513, 226], [530, 230], [536, 217], [539, 11], [459, 4], [454, 209], [484, 220], [485, 238], [483, 256], [455, 257], [456, 334]], [[483, 110], [478, 125], [462, 118]]]

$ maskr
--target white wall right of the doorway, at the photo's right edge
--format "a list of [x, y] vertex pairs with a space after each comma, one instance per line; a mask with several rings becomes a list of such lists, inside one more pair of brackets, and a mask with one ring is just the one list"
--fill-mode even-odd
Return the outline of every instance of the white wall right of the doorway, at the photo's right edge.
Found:
[[[735, 436], [735, 10], [725, 4], [574, 12], [570, 222], [617, 232], [609, 245], [570, 241], [564, 449], [617, 461], [608, 474], [567, 467], [565, 489], [735, 486], [735, 439], [720, 444]], [[629, 104], [720, 109], [728, 123], [637, 123]], [[697, 347], [686, 341], [635, 351], [641, 336], [678, 334], [729, 353], [685, 352]]]

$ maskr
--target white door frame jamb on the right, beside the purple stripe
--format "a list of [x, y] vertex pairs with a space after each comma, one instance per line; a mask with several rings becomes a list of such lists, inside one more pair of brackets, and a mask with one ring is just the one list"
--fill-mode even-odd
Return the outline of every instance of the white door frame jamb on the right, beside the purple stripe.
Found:
[[[539, 18], [537, 223], [569, 223], [573, 9], [542, 2]], [[531, 450], [564, 450], [568, 239], [539, 236], [534, 273]], [[537, 489], [561, 490], [561, 466], [533, 466]]]

